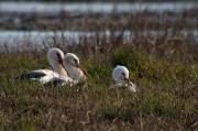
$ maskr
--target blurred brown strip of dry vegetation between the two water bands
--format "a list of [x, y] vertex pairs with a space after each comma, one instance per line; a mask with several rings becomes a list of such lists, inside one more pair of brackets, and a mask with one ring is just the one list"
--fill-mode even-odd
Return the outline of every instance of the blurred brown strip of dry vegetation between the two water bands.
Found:
[[[198, 9], [174, 12], [103, 13], [59, 12], [48, 13], [2, 13], [1, 30], [77, 30], [77, 31], [166, 31], [197, 29]], [[14, 22], [19, 20], [19, 22]]]

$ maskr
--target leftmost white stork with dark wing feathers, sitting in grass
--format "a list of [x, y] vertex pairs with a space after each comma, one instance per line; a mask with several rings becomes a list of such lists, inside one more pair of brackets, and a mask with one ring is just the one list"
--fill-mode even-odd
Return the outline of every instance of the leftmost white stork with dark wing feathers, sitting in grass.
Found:
[[20, 76], [21, 79], [37, 80], [45, 85], [55, 81], [58, 85], [66, 85], [67, 83], [75, 83], [67, 76], [67, 72], [64, 68], [64, 53], [59, 48], [51, 48], [47, 53], [48, 62], [53, 68], [51, 69], [37, 69], [32, 70]]

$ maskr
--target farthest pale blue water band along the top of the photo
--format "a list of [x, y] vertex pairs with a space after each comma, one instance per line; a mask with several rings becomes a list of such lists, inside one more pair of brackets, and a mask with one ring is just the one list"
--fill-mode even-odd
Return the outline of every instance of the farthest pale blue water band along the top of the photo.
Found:
[[134, 3], [44, 3], [44, 2], [0, 2], [0, 12], [37, 12], [37, 13], [58, 13], [68, 12], [94, 12], [94, 13], [118, 13], [124, 12], [180, 12], [190, 9], [198, 9], [197, 2], [134, 2]]

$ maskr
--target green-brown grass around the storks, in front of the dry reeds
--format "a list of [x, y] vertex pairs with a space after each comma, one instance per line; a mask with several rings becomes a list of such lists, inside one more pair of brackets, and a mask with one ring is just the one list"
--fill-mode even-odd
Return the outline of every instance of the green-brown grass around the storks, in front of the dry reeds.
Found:
[[[14, 80], [47, 68], [46, 51], [0, 54], [1, 130], [195, 130], [198, 121], [196, 57], [169, 56], [131, 44], [77, 53], [89, 77], [79, 87], [43, 87]], [[92, 45], [90, 45], [92, 46]], [[80, 48], [79, 48], [80, 47]], [[64, 48], [63, 48], [64, 50]], [[167, 48], [164, 48], [168, 51]], [[81, 52], [84, 51], [84, 52]], [[191, 53], [191, 52], [190, 52]], [[179, 54], [179, 53], [178, 53]], [[187, 54], [187, 53], [186, 53]], [[194, 54], [190, 54], [194, 56]], [[112, 89], [111, 72], [125, 65], [140, 91]]]

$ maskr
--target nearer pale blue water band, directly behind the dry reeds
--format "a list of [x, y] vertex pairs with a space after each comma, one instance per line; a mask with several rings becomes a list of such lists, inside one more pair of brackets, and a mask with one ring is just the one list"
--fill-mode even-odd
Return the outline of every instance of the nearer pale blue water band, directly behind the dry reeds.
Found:
[[[164, 31], [103, 31], [103, 32], [87, 32], [87, 31], [0, 31], [0, 45], [7, 45], [9, 47], [19, 47], [23, 44], [29, 44], [32, 47], [44, 47], [54, 43], [54, 37], [57, 41], [64, 42], [64, 44], [79, 44], [85, 37], [91, 36], [105, 36], [108, 41], [110, 36], [119, 36], [122, 34], [123, 43], [131, 42], [135, 39], [135, 35], [152, 36], [154, 40], [164, 34]], [[168, 32], [168, 35], [174, 35], [173, 32]], [[184, 39], [191, 35], [195, 41], [198, 42], [198, 31], [183, 30], [177, 35], [182, 35]]]

